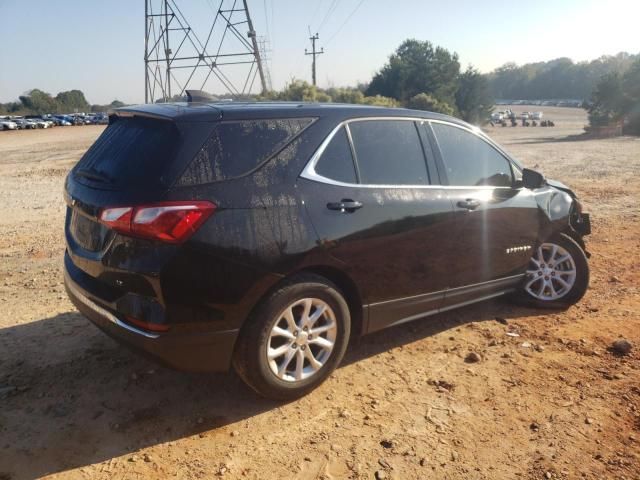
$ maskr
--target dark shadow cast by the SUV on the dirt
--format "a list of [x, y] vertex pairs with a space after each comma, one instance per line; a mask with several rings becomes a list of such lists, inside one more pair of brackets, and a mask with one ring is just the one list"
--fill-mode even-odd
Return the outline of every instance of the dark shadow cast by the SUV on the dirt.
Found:
[[[493, 301], [427, 317], [354, 342], [343, 366], [469, 322], [537, 314]], [[3, 480], [38, 478], [198, 434], [228, 436], [240, 427], [234, 424], [281, 405], [232, 373], [159, 367], [75, 312], [0, 330]]]

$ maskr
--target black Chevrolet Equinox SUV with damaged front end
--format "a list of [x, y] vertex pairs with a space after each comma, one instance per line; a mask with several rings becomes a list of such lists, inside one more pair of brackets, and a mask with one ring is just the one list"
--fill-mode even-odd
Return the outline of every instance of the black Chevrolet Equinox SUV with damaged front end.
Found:
[[507, 293], [567, 306], [589, 281], [573, 192], [428, 112], [123, 108], [65, 197], [82, 313], [170, 366], [233, 364], [275, 398], [321, 383], [350, 337]]

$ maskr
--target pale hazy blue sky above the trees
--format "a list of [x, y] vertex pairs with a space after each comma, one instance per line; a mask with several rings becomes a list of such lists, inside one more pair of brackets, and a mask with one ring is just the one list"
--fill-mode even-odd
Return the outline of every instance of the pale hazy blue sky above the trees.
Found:
[[[204, 42], [220, 0], [171, 1]], [[53, 95], [79, 89], [90, 103], [143, 102], [144, 5], [144, 0], [0, 0], [0, 102], [33, 88]], [[248, 0], [248, 5], [257, 35], [268, 46], [275, 89], [293, 78], [311, 81], [311, 56], [304, 54], [311, 48], [310, 32], [319, 34], [317, 46], [324, 48], [317, 60], [320, 87], [369, 81], [407, 38], [457, 52], [463, 67], [471, 64], [482, 72], [506, 62], [640, 52], [640, 0]], [[223, 51], [236, 47], [227, 43]], [[235, 83], [244, 77], [245, 66], [226, 68], [235, 68], [229, 70]], [[215, 82], [205, 90], [224, 91]]]

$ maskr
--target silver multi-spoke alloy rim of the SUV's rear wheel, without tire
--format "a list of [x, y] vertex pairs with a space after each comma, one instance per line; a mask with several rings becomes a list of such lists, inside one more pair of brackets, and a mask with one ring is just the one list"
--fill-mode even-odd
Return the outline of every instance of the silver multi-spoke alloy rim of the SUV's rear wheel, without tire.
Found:
[[319, 298], [290, 304], [274, 322], [267, 342], [267, 362], [281, 380], [299, 382], [322, 369], [336, 343], [338, 324], [331, 307]]

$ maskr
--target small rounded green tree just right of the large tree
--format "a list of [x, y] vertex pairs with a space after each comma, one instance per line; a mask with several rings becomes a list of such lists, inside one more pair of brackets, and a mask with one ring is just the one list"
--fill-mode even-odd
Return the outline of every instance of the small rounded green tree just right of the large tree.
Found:
[[469, 123], [485, 123], [493, 110], [487, 79], [469, 66], [458, 78], [456, 107], [460, 118]]

